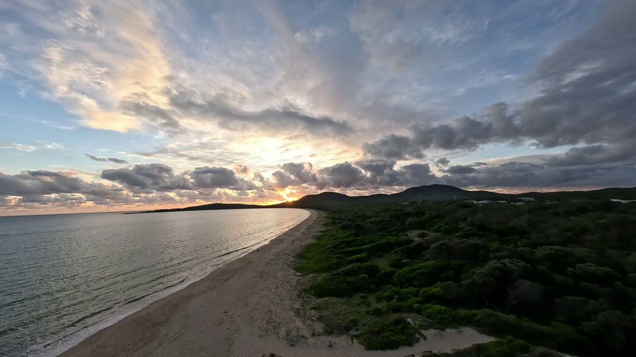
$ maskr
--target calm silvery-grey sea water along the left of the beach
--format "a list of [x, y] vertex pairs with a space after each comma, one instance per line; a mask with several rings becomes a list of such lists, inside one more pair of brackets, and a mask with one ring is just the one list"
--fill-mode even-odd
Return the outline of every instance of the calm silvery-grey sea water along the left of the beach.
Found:
[[0, 217], [0, 356], [55, 356], [307, 218], [305, 210]]

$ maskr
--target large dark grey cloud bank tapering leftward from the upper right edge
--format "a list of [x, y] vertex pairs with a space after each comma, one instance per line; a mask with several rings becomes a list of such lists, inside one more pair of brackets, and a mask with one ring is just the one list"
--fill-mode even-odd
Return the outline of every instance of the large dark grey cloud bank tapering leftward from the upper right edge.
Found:
[[[473, 150], [484, 144], [540, 147], [576, 144], [624, 145], [636, 137], [636, 3], [614, 1], [590, 30], [537, 66], [530, 82], [539, 94], [511, 110], [495, 103], [476, 117], [446, 124], [411, 125], [410, 135], [363, 145], [378, 158], [417, 158], [427, 149]], [[415, 154], [413, 154], [415, 153]]]

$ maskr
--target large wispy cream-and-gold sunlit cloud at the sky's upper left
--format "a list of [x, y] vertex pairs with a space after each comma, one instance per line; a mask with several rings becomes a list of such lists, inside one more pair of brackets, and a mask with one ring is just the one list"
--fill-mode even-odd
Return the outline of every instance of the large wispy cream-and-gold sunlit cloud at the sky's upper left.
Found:
[[151, 11], [121, 0], [15, 2], [6, 11], [16, 29], [4, 40], [13, 48], [12, 71], [39, 81], [43, 96], [82, 125], [136, 130], [142, 122], [120, 102], [149, 91], [165, 101], [157, 89], [170, 66]]

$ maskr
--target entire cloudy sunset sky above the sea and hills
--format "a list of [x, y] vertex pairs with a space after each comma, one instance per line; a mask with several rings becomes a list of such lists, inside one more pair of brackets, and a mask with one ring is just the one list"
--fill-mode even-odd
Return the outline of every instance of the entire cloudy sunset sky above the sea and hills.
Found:
[[636, 1], [0, 0], [0, 215], [636, 186]]

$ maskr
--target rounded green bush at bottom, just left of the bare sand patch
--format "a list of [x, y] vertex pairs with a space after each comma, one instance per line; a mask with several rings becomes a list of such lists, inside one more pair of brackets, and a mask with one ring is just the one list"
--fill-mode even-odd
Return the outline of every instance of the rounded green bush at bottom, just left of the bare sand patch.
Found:
[[417, 342], [417, 327], [403, 316], [391, 316], [363, 327], [354, 337], [365, 349], [397, 349]]

